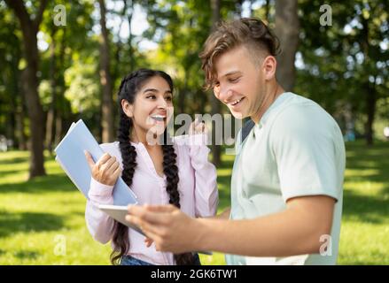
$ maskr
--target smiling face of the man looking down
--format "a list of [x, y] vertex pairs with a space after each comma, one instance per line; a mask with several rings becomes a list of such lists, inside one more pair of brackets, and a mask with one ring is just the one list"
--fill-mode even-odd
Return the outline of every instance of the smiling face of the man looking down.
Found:
[[217, 80], [214, 96], [229, 107], [237, 119], [252, 117], [264, 98], [264, 75], [261, 65], [255, 65], [251, 53], [239, 46], [215, 60]]

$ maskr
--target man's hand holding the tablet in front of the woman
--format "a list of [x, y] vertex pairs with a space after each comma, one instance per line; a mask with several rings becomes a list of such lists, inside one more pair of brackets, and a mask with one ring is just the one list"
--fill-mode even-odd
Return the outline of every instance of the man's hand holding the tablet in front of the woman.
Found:
[[[172, 204], [128, 205], [126, 220], [139, 226], [159, 251], [183, 253], [196, 249], [196, 219]], [[146, 244], [150, 246], [152, 241], [146, 239]]]

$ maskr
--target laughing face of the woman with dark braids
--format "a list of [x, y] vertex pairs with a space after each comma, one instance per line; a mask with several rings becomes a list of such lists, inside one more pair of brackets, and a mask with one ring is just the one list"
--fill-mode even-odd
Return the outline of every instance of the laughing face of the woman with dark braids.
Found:
[[165, 79], [154, 76], [138, 90], [133, 104], [123, 101], [122, 107], [136, 134], [163, 134], [173, 114], [172, 89]]

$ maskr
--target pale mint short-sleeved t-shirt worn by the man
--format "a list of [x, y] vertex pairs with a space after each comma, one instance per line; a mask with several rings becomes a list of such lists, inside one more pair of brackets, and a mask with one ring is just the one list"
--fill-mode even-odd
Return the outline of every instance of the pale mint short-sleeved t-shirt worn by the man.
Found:
[[329, 195], [337, 202], [331, 238], [322, 239], [326, 247], [322, 255], [226, 255], [227, 264], [336, 264], [346, 153], [343, 135], [331, 115], [305, 97], [284, 93], [270, 105], [245, 141], [238, 139], [236, 150], [231, 219], [283, 211], [286, 201], [297, 196]]

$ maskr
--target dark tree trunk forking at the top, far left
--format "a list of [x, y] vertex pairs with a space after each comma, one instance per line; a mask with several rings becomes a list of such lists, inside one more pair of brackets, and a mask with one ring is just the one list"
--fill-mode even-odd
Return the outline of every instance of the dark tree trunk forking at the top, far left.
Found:
[[27, 68], [24, 73], [25, 94], [28, 105], [28, 117], [30, 119], [31, 132], [31, 157], [28, 179], [35, 176], [45, 175], [44, 158], [43, 158], [43, 109], [38, 95], [38, 72], [39, 53], [37, 47], [36, 34], [42, 21], [43, 11], [46, 7], [47, 0], [41, 1], [39, 11], [35, 19], [30, 19], [26, 7], [22, 0], [5, 0], [6, 4], [15, 12], [19, 19], [20, 27], [23, 34], [23, 43]]

